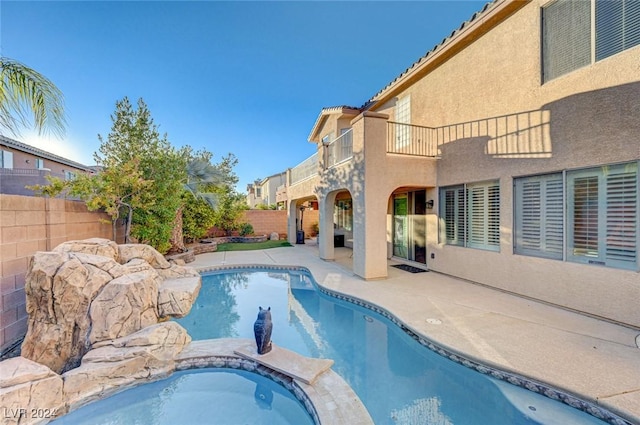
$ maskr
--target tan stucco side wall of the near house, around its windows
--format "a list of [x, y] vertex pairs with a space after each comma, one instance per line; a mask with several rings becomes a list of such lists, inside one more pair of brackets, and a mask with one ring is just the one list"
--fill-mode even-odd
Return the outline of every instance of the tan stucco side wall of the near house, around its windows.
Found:
[[[500, 180], [500, 252], [440, 244], [430, 214], [428, 265], [640, 326], [639, 273], [512, 253], [514, 177], [640, 159], [640, 46], [541, 84], [544, 3], [531, 2], [397, 96], [411, 96], [412, 123], [440, 130], [438, 186]], [[377, 110], [393, 113], [394, 103]]]

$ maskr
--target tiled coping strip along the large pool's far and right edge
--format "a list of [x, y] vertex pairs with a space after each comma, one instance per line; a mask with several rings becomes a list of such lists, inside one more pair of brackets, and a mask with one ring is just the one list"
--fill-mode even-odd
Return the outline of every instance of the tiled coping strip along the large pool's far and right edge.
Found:
[[325, 295], [331, 296], [333, 298], [337, 298], [343, 301], [347, 301], [358, 305], [360, 307], [369, 309], [373, 312], [376, 312], [383, 317], [390, 320], [396, 326], [398, 326], [401, 330], [403, 330], [406, 334], [415, 339], [420, 345], [430, 349], [431, 351], [451, 360], [456, 363], [459, 363], [465, 367], [473, 369], [479, 373], [484, 375], [491, 376], [492, 378], [508, 382], [512, 385], [516, 385], [518, 387], [525, 388], [529, 391], [532, 391], [537, 394], [541, 394], [545, 397], [548, 397], [552, 400], [556, 400], [567, 404], [575, 409], [581, 410], [585, 413], [588, 413], [591, 416], [594, 416], [602, 421], [605, 421], [612, 425], [633, 425], [633, 422], [617, 415], [613, 411], [601, 407], [597, 404], [597, 400], [588, 400], [585, 397], [581, 397], [577, 394], [574, 394], [570, 391], [559, 389], [556, 386], [549, 385], [547, 383], [541, 382], [539, 380], [529, 378], [525, 375], [522, 375], [513, 370], [507, 370], [504, 367], [498, 367], [495, 364], [491, 364], [490, 362], [479, 359], [475, 356], [469, 355], [467, 353], [463, 353], [455, 348], [448, 346], [446, 344], [442, 344], [436, 342], [423, 333], [417, 331], [412, 328], [407, 323], [400, 320], [396, 317], [391, 311], [362, 298], [356, 297], [354, 295], [348, 295], [337, 291], [335, 289], [331, 289], [326, 285], [320, 283], [313, 275], [309, 268], [298, 265], [284, 265], [284, 264], [221, 264], [215, 266], [203, 266], [203, 267], [195, 267], [195, 269], [199, 273], [207, 273], [207, 272], [215, 272], [221, 270], [233, 270], [233, 269], [253, 269], [253, 270], [293, 270], [299, 272], [305, 272], [309, 274], [313, 278], [314, 284], [318, 287], [318, 289], [324, 293]]

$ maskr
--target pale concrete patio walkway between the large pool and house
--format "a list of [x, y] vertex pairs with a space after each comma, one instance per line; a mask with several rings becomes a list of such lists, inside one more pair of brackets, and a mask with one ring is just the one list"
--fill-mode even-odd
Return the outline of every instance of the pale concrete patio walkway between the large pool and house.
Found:
[[387, 279], [366, 281], [353, 274], [350, 252], [336, 249], [336, 260], [324, 261], [315, 244], [306, 244], [201, 254], [188, 265], [306, 267], [320, 285], [382, 307], [450, 352], [640, 424], [640, 330], [435, 272], [412, 274], [393, 262]]

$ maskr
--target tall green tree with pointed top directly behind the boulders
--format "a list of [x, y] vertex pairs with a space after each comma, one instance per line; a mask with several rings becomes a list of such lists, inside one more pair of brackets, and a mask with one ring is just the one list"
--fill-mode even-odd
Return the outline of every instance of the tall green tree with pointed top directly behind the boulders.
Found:
[[136, 198], [144, 207], [131, 208], [131, 235], [167, 252], [176, 212], [182, 205], [188, 151], [171, 146], [166, 134], [160, 136], [142, 99], [137, 108], [126, 97], [116, 102], [111, 120], [107, 138], [98, 136], [101, 144], [94, 155], [96, 163], [104, 171], [117, 173], [131, 161], [138, 161], [141, 179], [150, 183]]

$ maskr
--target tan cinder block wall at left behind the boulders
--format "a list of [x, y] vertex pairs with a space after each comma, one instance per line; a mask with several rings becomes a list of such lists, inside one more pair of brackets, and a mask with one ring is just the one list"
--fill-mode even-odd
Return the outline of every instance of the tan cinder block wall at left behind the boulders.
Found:
[[[0, 194], [0, 352], [27, 331], [25, 274], [36, 251], [68, 240], [111, 239], [109, 217], [84, 202]], [[123, 232], [119, 229], [118, 242]]]

